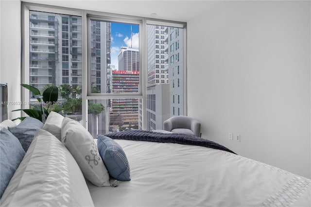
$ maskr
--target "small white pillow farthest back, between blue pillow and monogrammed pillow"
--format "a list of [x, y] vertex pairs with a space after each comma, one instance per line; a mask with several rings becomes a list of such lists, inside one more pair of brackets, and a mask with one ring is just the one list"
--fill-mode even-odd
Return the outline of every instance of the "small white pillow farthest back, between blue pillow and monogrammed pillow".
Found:
[[42, 129], [50, 132], [52, 135], [60, 140], [60, 131], [62, 128], [63, 119], [64, 117], [62, 115], [51, 111]]

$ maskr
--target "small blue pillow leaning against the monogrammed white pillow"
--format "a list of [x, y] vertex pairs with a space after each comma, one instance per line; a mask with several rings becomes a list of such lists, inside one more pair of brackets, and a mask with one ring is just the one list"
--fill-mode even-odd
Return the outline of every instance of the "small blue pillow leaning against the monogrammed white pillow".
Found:
[[127, 181], [130, 178], [130, 166], [122, 147], [112, 138], [97, 135], [97, 147], [111, 177]]

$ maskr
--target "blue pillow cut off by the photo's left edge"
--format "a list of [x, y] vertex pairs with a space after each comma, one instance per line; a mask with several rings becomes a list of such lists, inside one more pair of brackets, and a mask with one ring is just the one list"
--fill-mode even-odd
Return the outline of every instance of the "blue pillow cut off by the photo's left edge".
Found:
[[11, 178], [13, 177], [19, 163], [23, 159], [25, 151], [18, 139], [7, 129], [0, 131], [0, 198]]

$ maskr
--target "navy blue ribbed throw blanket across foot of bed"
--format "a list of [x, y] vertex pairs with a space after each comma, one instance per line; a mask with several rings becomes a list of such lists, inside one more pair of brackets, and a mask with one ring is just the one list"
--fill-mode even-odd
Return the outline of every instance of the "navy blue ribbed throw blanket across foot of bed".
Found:
[[114, 132], [104, 135], [113, 139], [126, 139], [135, 141], [155, 141], [155, 142], [171, 142], [177, 144], [189, 144], [197, 145], [203, 147], [214, 148], [218, 150], [224, 150], [233, 154], [236, 154], [224, 147], [221, 144], [210, 141], [205, 138], [199, 138], [191, 135], [185, 134], [175, 134], [175, 133], [160, 133], [145, 130], [128, 130], [122, 132]]

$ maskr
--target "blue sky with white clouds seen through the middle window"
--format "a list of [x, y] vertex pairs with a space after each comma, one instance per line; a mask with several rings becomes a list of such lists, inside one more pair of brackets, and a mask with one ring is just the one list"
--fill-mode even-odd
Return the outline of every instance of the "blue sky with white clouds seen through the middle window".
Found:
[[118, 69], [118, 54], [120, 48], [129, 47], [139, 49], [139, 25], [132, 24], [132, 41], [131, 41], [131, 24], [111, 22], [111, 65]]

